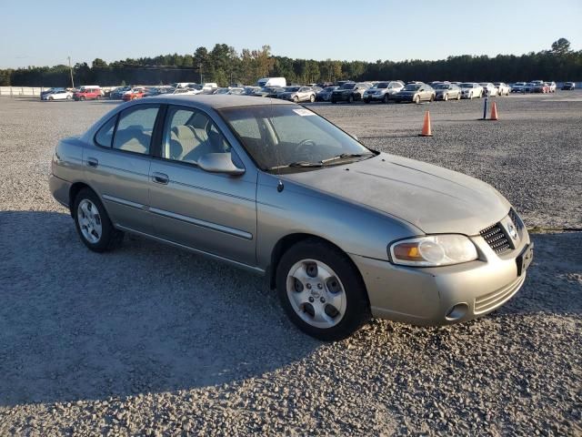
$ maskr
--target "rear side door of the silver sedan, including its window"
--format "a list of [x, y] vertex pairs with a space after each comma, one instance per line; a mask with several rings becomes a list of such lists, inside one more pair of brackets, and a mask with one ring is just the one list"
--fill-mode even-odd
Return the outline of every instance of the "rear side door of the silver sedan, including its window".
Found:
[[85, 177], [103, 199], [113, 222], [152, 232], [147, 214], [152, 134], [159, 105], [135, 105], [108, 120], [85, 149]]

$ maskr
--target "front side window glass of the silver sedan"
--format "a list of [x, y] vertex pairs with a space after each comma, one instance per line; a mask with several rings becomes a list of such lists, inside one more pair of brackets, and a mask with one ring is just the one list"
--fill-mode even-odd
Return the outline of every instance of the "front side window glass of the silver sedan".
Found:
[[162, 158], [197, 164], [208, 153], [230, 153], [230, 145], [210, 117], [196, 109], [169, 107]]

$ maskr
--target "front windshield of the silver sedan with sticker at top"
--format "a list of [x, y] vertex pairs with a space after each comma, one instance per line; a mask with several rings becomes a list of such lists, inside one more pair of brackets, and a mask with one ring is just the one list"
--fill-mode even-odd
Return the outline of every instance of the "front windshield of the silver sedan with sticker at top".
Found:
[[[321, 166], [322, 161], [344, 154], [343, 158], [334, 159], [333, 165], [346, 163], [346, 158], [362, 159], [372, 155], [353, 137], [303, 107], [260, 105], [227, 107], [218, 112], [257, 166], [264, 170], [300, 171], [299, 167], [283, 168], [296, 163]], [[363, 155], [366, 157], [360, 157]]]

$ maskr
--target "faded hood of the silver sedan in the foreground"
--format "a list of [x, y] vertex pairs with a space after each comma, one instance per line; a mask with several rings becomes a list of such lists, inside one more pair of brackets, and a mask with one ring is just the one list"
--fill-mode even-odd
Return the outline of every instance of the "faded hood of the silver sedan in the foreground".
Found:
[[406, 220], [427, 234], [477, 235], [510, 208], [495, 188], [476, 178], [385, 153], [281, 178]]

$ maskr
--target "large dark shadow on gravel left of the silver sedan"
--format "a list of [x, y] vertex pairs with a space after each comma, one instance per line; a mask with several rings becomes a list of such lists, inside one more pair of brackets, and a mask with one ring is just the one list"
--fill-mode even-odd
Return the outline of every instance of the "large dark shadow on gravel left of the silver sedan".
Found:
[[0, 212], [0, 235], [0, 405], [213, 386], [321, 345], [246, 271], [132, 236], [97, 254], [65, 212]]

